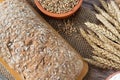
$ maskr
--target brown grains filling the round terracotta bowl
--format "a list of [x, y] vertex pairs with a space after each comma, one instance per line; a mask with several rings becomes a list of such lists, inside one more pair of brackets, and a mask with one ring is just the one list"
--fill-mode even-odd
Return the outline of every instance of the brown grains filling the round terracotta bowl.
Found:
[[66, 13], [71, 11], [79, 0], [38, 0], [41, 6], [51, 13]]

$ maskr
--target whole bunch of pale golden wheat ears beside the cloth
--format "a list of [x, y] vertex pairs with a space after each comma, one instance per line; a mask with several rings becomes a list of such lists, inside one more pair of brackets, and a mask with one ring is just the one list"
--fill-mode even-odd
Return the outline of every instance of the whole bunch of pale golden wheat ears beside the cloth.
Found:
[[101, 24], [85, 22], [89, 29], [80, 29], [94, 49], [91, 58], [85, 60], [101, 68], [120, 69], [120, 10], [114, 0], [100, 2], [105, 10], [94, 7], [99, 12], [95, 15]]

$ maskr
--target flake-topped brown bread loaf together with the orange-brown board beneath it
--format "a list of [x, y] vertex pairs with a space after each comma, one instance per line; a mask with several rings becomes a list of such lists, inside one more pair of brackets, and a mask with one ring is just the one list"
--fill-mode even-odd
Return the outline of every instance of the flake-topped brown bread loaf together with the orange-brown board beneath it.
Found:
[[82, 80], [80, 55], [26, 0], [0, 0], [0, 73], [9, 80]]

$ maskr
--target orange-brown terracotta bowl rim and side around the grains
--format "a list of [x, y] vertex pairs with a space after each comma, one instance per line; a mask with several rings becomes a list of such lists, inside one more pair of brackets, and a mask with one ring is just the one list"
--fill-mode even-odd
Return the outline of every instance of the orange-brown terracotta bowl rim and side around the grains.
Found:
[[71, 16], [72, 14], [74, 14], [74, 13], [80, 8], [80, 6], [81, 6], [81, 4], [82, 4], [82, 1], [83, 1], [83, 0], [79, 0], [79, 3], [78, 3], [71, 11], [66, 12], [66, 13], [57, 14], [57, 13], [51, 13], [51, 12], [45, 10], [45, 9], [41, 6], [41, 4], [39, 3], [38, 0], [34, 0], [36, 6], [39, 8], [39, 10], [40, 10], [41, 12], [43, 12], [44, 14], [46, 14], [46, 15], [48, 15], [48, 16], [50, 16], [50, 17], [59, 18], [59, 19], [67, 18], [67, 17]]

